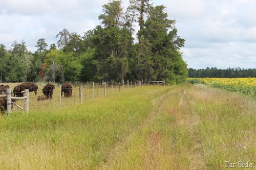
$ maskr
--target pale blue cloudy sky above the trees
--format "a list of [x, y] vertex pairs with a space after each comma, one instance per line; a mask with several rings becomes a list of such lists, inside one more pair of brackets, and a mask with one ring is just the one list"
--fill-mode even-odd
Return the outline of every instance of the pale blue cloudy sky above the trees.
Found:
[[[123, 0], [123, 7], [129, 0]], [[81, 36], [100, 25], [109, 0], [1, 0], [0, 44], [25, 42], [35, 52], [44, 38], [48, 47], [67, 29]], [[188, 68], [256, 68], [256, 0], [153, 0], [176, 20], [180, 49]]]

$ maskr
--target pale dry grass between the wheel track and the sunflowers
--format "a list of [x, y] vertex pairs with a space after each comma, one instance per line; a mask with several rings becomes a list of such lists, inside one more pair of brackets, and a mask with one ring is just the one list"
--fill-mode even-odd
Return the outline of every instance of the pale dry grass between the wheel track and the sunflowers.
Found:
[[[204, 87], [204, 86], [203, 86]], [[256, 168], [255, 100], [245, 95], [195, 86], [191, 106], [200, 115], [197, 133], [207, 169], [224, 169], [225, 161], [253, 164]]]

